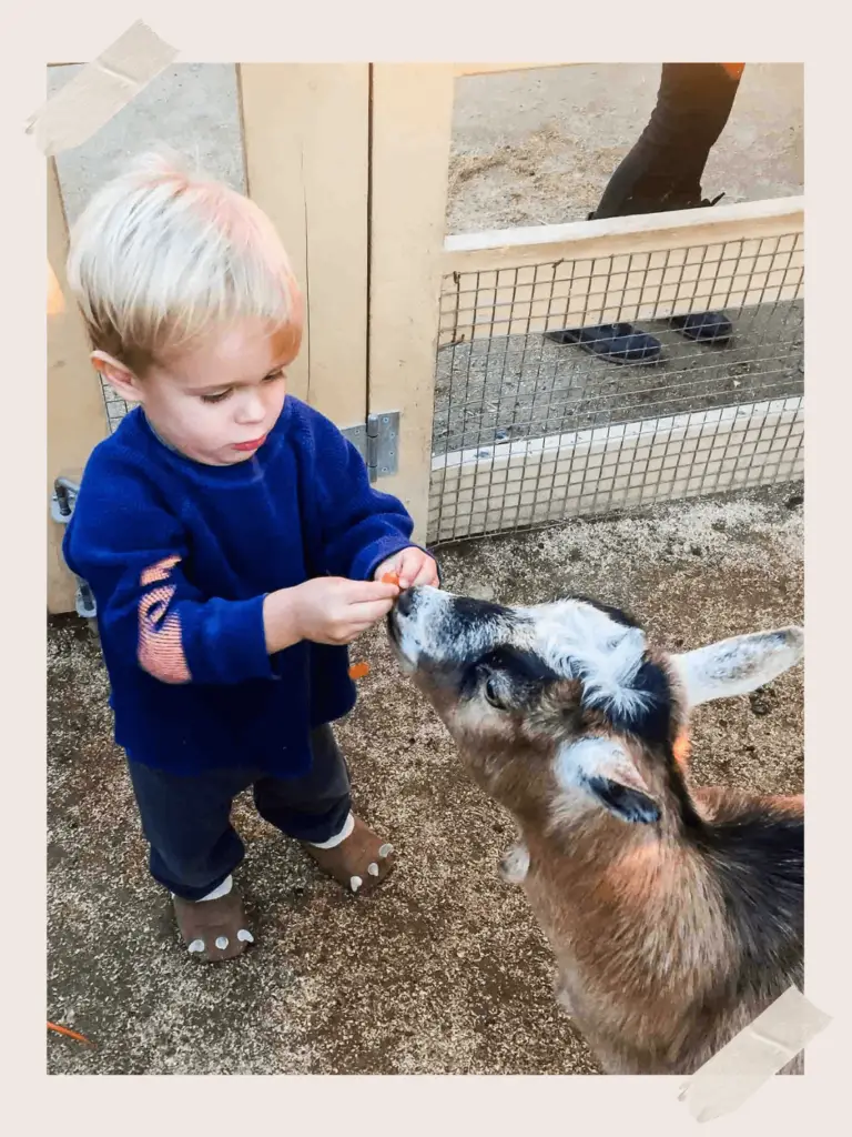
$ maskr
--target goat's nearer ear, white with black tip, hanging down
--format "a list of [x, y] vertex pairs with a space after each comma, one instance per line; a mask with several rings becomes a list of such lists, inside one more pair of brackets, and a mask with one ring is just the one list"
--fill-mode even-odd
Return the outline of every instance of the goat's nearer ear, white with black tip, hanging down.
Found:
[[629, 754], [610, 738], [583, 738], [562, 747], [557, 781], [566, 790], [585, 790], [623, 821], [653, 824], [660, 807]]

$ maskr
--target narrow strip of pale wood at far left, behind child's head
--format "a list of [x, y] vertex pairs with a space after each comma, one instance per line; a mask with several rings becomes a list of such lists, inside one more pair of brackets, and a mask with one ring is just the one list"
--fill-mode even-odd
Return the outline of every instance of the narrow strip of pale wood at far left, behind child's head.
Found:
[[56, 161], [48, 160], [48, 262], [61, 292], [53, 294], [48, 316], [48, 611], [73, 612], [76, 582], [65, 566], [65, 526], [50, 518], [53, 481], [78, 479], [94, 446], [109, 433], [98, 373], [92, 367], [83, 318], [68, 290], [65, 260], [68, 229]]

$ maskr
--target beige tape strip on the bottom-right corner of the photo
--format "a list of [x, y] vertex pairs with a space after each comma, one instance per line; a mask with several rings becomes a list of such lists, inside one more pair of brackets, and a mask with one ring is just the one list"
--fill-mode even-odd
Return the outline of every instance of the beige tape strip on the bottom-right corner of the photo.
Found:
[[791, 987], [696, 1070], [678, 1098], [696, 1121], [732, 1113], [830, 1021], [830, 1015]]

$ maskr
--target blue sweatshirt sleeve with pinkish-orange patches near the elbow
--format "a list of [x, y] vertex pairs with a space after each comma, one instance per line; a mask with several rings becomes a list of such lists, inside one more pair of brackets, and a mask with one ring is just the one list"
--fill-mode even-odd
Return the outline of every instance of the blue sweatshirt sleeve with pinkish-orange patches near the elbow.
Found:
[[86, 474], [62, 551], [94, 594], [105, 648], [164, 683], [273, 678], [264, 597], [202, 596], [179, 518], [126, 471]]

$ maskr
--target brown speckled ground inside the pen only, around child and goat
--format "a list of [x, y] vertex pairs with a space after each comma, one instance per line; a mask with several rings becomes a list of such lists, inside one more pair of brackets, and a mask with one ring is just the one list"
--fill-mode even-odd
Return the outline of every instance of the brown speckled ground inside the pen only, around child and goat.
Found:
[[[454, 591], [586, 591], [633, 609], [658, 644], [696, 647], [801, 621], [801, 488], [448, 547], [442, 563]], [[356, 650], [373, 670], [340, 737], [356, 807], [399, 868], [353, 898], [239, 800], [257, 944], [219, 968], [178, 947], [148, 875], [95, 642], [60, 617], [48, 655], [48, 1018], [97, 1044], [50, 1034], [50, 1072], [595, 1071], [521, 893], [498, 879], [511, 823], [468, 781], [381, 629]], [[801, 790], [801, 669], [702, 708], [694, 728], [696, 782]]]

